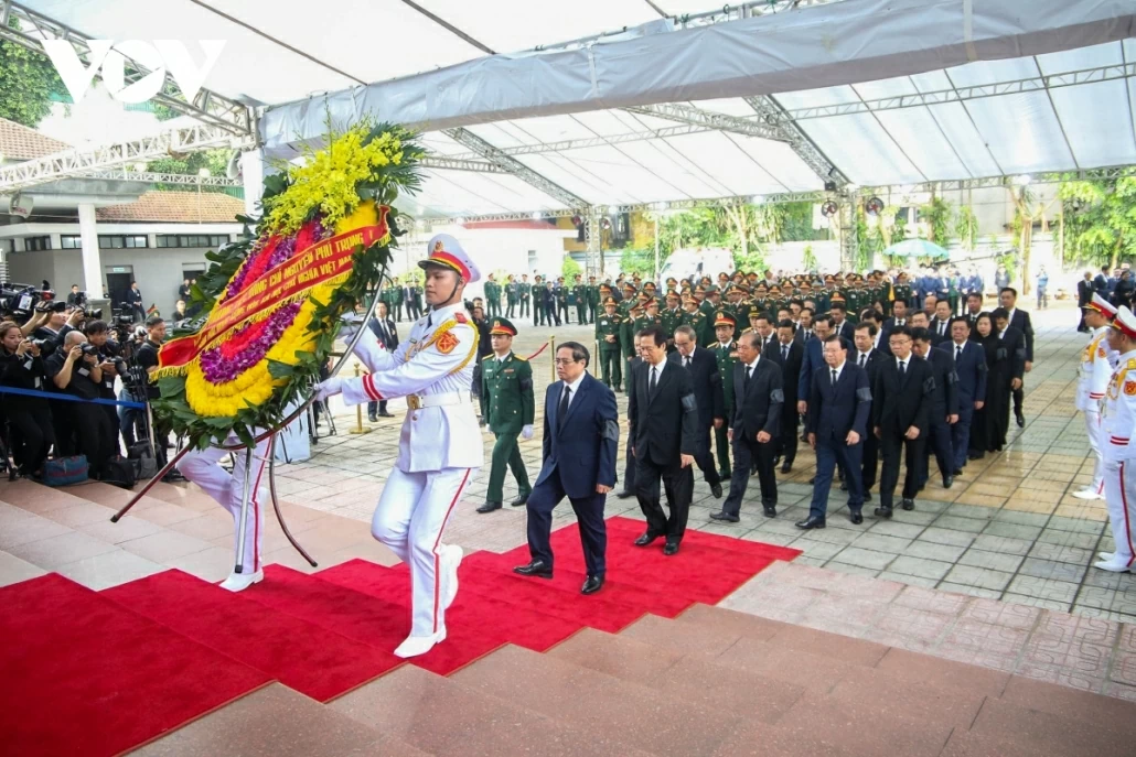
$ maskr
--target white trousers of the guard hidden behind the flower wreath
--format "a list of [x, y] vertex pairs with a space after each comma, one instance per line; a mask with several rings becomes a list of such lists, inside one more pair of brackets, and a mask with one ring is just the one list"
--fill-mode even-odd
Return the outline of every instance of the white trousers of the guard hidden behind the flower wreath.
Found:
[[[231, 436], [226, 441], [232, 444], [235, 440], [236, 437]], [[241, 564], [241, 573], [256, 573], [262, 567], [260, 547], [265, 538], [264, 502], [268, 497], [268, 491], [262, 490], [261, 486], [268, 463], [268, 439], [257, 445], [252, 456], [249, 514], [244, 523], [244, 533], [237, 531], [241, 528], [241, 497], [244, 496], [244, 466], [248, 453], [244, 451], [233, 453], [232, 474], [220, 466], [222, 457], [227, 454], [217, 447], [194, 449], [182, 457], [177, 463], [177, 470], [229, 512], [233, 516], [233, 552], [236, 562]]]

